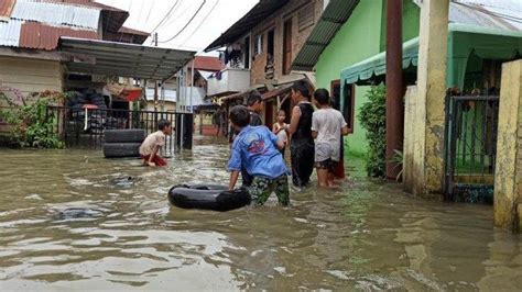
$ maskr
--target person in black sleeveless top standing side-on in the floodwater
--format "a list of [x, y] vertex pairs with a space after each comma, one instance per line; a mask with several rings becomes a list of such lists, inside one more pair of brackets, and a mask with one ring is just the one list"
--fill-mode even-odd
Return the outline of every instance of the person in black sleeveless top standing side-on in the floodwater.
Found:
[[292, 161], [292, 182], [295, 187], [306, 187], [314, 171], [315, 145], [312, 137], [312, 115], [314, 108], [311, 103], [308, 85], [297, 81], [292, 86], [292, 100], [296, 104], [292, 110], [289, 133]]

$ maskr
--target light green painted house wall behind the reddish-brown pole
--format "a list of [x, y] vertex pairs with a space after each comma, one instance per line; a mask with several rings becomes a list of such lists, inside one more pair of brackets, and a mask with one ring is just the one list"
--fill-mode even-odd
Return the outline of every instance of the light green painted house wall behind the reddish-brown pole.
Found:
[[[418, 36], [420, 8], [411, 0], [403, 1], [403, 40]], [[385, 50], [385, 0], [360, 1], [350, 19], [342, 25], [316, 65], [316, 86], [330, 88], [340, 71], [356, 63]], [[354, 134], [347, 137], [352, 155], [367, 151], [366, 133], [361, 128], [358, 112], [367, 101], [368, 87], [356, 87], [356, 119]]]

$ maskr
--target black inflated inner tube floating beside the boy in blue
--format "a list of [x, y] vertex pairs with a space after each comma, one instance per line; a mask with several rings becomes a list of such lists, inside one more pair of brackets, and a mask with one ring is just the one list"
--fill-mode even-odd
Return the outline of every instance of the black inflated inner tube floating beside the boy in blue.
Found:
[[251, 202], [246, 189], [228, 191], [215, 184], [177, 186], [168, 191], [171, 204], [182, 209], [199, 209], [226, 212], [247, 206]]

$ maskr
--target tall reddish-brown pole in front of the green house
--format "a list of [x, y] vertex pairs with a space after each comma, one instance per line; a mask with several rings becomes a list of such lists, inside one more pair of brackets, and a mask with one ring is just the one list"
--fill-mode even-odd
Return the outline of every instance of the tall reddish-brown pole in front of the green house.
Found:
[[393, 161], [404, 141], [404, 85], [402, 77], [402, 0], [387, 3], [387, 177], [396, 179]]

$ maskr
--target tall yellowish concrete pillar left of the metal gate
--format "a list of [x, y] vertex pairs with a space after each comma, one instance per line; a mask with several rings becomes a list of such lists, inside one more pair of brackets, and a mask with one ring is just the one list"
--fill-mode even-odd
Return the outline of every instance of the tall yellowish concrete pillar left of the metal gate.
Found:
[[[406, 191], [425, 198], [441, 199], [444, 183], [444, 128], [446, 55], [449, 0], [423, 0], [417, 69], [415, 121], [407, 121], [405, 144], [416, 142], [406, 159], [417, 170], [406, 182]], [[411, 109], [410, 109], [411, 110]], [[416, 132], [416, 133], [415, 133]], [[409, 146], [404, 145], [405, 148]], [[405, 166], [407, 167], [407, 166]], [[407, 169], [405, 169], [407, 171]]]

